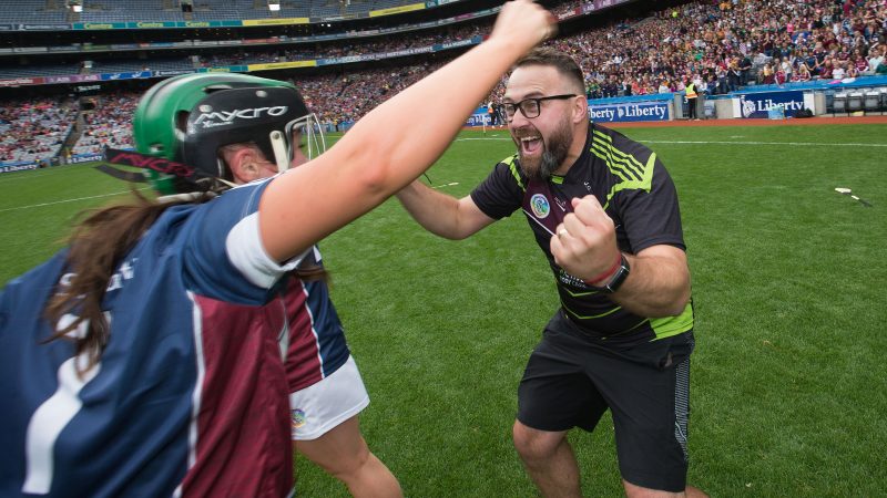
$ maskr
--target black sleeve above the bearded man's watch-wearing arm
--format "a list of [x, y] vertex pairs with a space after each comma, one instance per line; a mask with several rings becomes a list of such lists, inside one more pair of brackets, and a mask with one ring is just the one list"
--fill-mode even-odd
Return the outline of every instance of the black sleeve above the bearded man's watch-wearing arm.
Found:
[[659, 158], [654, 158], [649, 189], [622, 190], [615, 200], [621, 217], [618, 222], [624, 225], [632, 253], [657, 245], [686, 249], [677, 190]]

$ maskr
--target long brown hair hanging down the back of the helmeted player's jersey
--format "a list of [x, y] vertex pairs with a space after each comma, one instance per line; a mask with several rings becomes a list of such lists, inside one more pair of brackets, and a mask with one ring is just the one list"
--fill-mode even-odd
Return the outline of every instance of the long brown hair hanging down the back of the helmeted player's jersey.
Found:
[[[58, 286], [44, 310], [47, 319], [55, 328], [55, 333], [47, 342], [64, 338], [82, 323], [86, 324], [85, 335], [74, 339], [77, 354], [84, 354], [88, 360], [85, 365], [77, 363], [79, 373], [98, 363], [108, 343], [110, 328], [101, 305], [121, 260], [163, 211], [193, 201], [157, 203], [135, 190], [133, 195], [134, 203], [84, 212], [86, 217], [74, 227], [68, 240], [68, 270], [73, 272], [73, 277], [70, 282]], [[202, 203], [210, 198], [212, 196], [202, 196], [195, 200]], [[68, 313], [74, 314], [75, 319], [60, 328], [62, 317]]]

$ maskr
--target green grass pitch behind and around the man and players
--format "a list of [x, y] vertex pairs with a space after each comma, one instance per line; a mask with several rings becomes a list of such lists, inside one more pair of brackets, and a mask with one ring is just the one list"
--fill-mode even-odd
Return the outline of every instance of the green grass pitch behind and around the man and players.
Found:
[[[681, 198], [697, 343], [690, 483], [713, 497], [883, 495], [887, 126], [622, 132], [657, 152]], [[463, 196], [512, 151], [504, 131], [463, 132], [429, 177]], [[0, 282], [58, 249], [78, 211], [126, 191], [89, 165], [0, 175]], [[526, 224], [448, 241], [389, 200], [320, 243], [373, 397], [361, 427], [407, 496], [536, 496], [510, 428], [558, 303]], [[570, 440], [583, 492], [619, 496], [610, 418]], [[297, 467], [298, 496], [347, 496]]]

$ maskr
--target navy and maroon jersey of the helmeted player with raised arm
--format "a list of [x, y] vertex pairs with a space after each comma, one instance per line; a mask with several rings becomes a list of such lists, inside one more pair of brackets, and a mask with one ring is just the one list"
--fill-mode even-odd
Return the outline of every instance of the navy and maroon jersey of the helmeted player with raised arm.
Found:
[[77, 271], [65, 252], [3, 289], [0, 496], [292, 491], [283, 356], [309, 298], [286, 293], [299, 258], [281, 266], [261, 245], [267, 185], [157, 219], [110, 281], [109, 342], [82, 376], [71, 341], [44, 342], [47, 301]]

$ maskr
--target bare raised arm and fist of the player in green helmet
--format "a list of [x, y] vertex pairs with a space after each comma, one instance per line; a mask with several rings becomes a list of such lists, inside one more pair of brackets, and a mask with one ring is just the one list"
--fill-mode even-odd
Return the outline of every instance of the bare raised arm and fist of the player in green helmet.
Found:
[[298, 255], [418, 177], [552, 27], [540, 6], [506, 3], [487, 41], [376, 107], [327, 153], [275, 178], [259, 205], [268, 255], [278, 261]]

